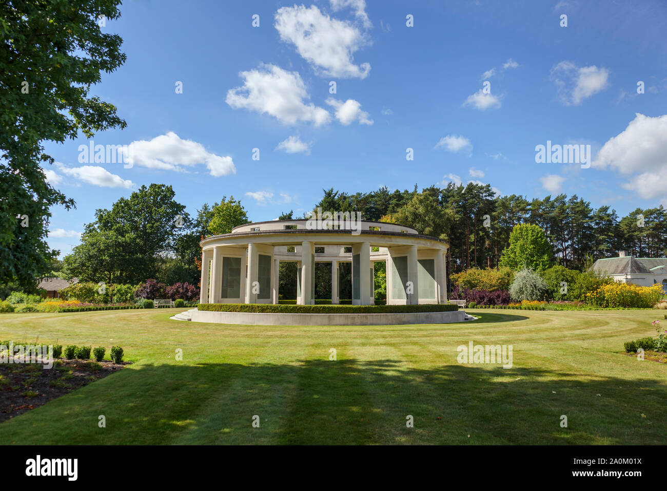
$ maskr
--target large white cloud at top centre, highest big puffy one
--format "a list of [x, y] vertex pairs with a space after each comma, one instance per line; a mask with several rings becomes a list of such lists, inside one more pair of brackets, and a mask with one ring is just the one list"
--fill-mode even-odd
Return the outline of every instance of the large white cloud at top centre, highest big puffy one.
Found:
[[[341, 8], [352, 3], [359, 2], [335, 2]], [[278, 9], [274, 25], [280, 39], [293, 44], [319, 74], [340, 78], [368, 76], [370, 63], [356, 65], [353, 55], [370, 41], [352, 23], [332, 19], [315, 5], [294, 5]]]

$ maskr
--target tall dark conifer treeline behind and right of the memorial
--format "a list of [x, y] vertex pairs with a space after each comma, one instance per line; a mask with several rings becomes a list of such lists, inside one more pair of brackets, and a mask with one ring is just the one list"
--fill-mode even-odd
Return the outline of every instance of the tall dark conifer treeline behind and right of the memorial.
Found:
[[667, 210], [662, 205], [636, 208], [619, 218], [611, 206], [594, 209], [576, 194], [529, 200], [516, 194], [496, 196], [490, 184], [450, 182], [445, 188], [431, 186], [422, 192], [417, 186], [412, 191], [391, 192], [383, 187], [356, 194], [331, 188], [323, 190], [318, 206], [362, 212], [364, 220], [394, 221], [444, 238], [450, 242], [451, 272], [496, 267], [512, 228], [519, 223], [542, 227], [552, 245], [554, 264], [570, 269], [581, 270], [618, 251], [634, 257], [667, 254]]

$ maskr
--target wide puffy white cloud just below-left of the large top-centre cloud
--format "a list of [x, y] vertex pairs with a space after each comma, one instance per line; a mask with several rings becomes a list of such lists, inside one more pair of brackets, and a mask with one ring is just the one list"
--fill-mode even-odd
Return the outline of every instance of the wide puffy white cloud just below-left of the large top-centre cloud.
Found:
[[310, 96], [297, 71], [286, 71], [271, 64], [241, 71], [243, 87], [230, 89], [226, 102], [234, 109], [269, 114], [279, 122], [310, 122], [319, 126], [329, 122], [327, 110], [305, 102]]

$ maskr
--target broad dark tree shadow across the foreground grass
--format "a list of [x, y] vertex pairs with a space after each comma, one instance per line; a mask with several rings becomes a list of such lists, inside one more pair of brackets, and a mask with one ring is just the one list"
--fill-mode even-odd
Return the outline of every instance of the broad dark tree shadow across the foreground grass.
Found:
[[[640, 394], [640, 395], [638, 395]], [[667, 385], [394, 359], [143, 365], [0, 425], [73, 444], [664, 444]], [[100, 432], [97, 417], [105, 414]], [[259, 428], [253, 428], [257, 415]], [[561, 416], [568, 428], [561, 428]], [[642, 416], [644, 415], [644, 416]], [[406, 428], [413, 416], [414, 428]], [[469, 436], [470, 435], [470, 436]]]

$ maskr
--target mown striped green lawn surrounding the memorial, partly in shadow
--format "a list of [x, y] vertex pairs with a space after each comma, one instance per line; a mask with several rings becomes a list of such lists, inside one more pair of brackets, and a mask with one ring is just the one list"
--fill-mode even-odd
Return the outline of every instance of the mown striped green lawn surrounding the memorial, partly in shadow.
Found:
[[[0, 315], [0, 339], [107, 357], [121, 345], [135, 362], [0, 424], [0, 443], [667, 443], [667, 365], [619, 354], [664, 311], [469, 309], [481, 318], [385, 327], [169, 320], [177, 311]], [[514, 367], [458, 364], [471, 340], [513, 345]]]

